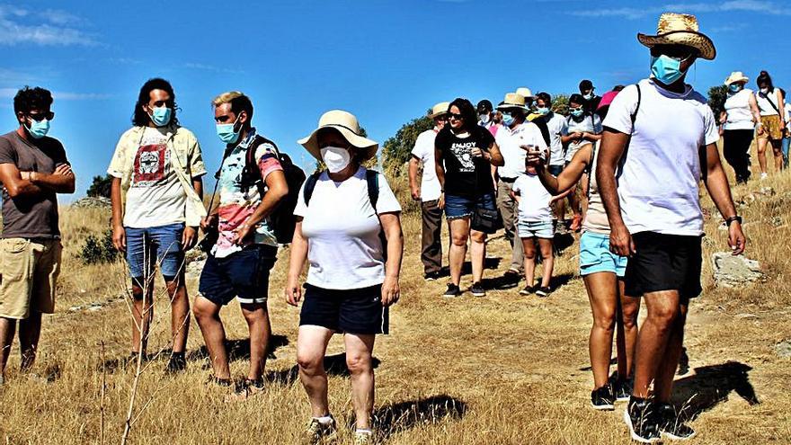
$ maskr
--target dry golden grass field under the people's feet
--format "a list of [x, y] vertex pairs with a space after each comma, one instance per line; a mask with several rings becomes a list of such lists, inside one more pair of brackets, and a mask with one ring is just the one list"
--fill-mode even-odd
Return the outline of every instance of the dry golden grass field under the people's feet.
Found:
[[[752, 181], [733, 194], [740, 200], [763, 186], [777, 193], [741, 211], [747, 254], [760, 261], [767, 278], [747, 289], [714, 287], [710, 255], [727, 250], [726, 232], [717, 229], [714, 206], [704, 198], [715, 215], [706, 226], [705, 292], [690, 306], [689, 372], [676, 382], [678, 402], [694, 414], [698, 437], [692, 444], [791, 443], [791, 360], [775, 352], [777, 343], [791, 340], [791, 174]], [[406, 196], [403, 190], [400, 196]], [[0, 387], [3, 443], [118, 443], [124, 429], [134, 377], [134, 369], [114, 366], [129, 354], [129, 308], [119, 298], [124, 267], [84, 266], [76, 258], [85, 237], [107, 227], [109, 213], [62, 213], [66, 249], [57, 313], [44, 319], [34, 369], [40, 378], [18, 373], [14, 345]], [[419, 224], [415, 213], [404, 215], [403, 297], [391, 312], [391, 334], [380, 337], [375, 350], [376, 411], [387, 443], [627, 443], [623, 405], [614, 413], [595, 412], [589, 405], [591, 314], [576, 276], [577, 246], [559, 257], [555, 274], [561, 285], [549, 298], [520, 297], [518, 289], [507, 289], [449, 300], [440, 297], [444, 280], [422, 280]], [[507, 250], [502, 236], [493, 237], [487, 279], [502, 276]], [[265, 392], [227, 403], [226, 388], [207, 385], [209, 364], [192, 321], [187, 372], [165, 376], [168, 352], [163, 351], [142, 374], [130, 443], [298, 443], [309, 410], [295, 369], [298, 309], [282, 298], [288, 257], [283, 250], [271, 274], [274, 337]], [[471, 284], [469, 275], [462, 284]], [[189, 289], [194, 296], [195, 280]], [[166, 350], [170, 343], [167, 299], [157, 295], [149, 352]], [[92, 303], [103, 306], [92, 310]], [[236, 303], [223, 317], [235, 347], [231, 369], [242, 376], [246, 325]], [[340, 339], [333, 339], [329, 360], [341, 366], [331, 372], [330, 403], [345, 424], [351, 400], [341, 353]], [[339, 442], [347, 441], [351, 434], [344, 431]]]

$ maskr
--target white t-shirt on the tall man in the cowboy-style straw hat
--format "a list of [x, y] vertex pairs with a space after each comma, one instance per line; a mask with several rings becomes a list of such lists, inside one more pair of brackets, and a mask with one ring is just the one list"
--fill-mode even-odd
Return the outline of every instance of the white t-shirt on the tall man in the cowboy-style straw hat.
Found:
[[664, 90], [651, 79], [638, 85], [642, 99], [634, 131], [635, 85], [615, 97], [604, 120], [605, 127], [632, 134], [618, 175], [624, 223], [633, 234], [701, 236], [699, 153], [719, 140], [714, 113], [689, 85], [684, 93]]

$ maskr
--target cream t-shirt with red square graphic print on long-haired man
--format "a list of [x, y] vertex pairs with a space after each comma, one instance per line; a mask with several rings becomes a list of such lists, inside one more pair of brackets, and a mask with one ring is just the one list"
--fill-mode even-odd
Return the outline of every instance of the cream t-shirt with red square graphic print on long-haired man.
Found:
[[184, 222], [187, 194], [171, 165], [167, 129], [147, 127], [135, 155], [123, 224], [159, 227]]

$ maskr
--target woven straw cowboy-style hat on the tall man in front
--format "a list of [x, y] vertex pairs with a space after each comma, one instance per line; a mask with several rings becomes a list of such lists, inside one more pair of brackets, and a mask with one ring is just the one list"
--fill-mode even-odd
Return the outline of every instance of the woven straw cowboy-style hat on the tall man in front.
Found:
[[648, 48], [655, 45], [684, 45], [698, 49], [701, 58], [714, 60], [714, 42], [698, 31], [698, 18], [686, 13], [662, 13], [656, 35], [637, 34], [637, 40]]

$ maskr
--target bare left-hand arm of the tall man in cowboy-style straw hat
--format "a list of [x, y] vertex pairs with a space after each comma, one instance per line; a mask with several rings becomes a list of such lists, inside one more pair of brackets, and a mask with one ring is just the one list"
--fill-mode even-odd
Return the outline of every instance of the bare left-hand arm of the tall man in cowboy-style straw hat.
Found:
[[634, 254], [635, 243], [632, 235], [621, 218], [621, 206], [618, 200], [618, 186], [615, 182], [615, 171], [618, 161], [626, 150], [629, 135], [615, 129], [605, 129], [599, 148], [599, 162], [596, 165], [596, 182], [609, 220], [610, 250], [621, 256]]

